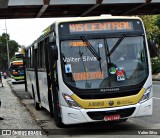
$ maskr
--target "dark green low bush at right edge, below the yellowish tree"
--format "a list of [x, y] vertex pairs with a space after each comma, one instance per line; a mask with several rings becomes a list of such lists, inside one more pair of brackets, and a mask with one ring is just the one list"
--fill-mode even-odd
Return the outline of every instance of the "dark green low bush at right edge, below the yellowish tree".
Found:
[[160, 73], [160, 57], [151, 58], [152, 74]]

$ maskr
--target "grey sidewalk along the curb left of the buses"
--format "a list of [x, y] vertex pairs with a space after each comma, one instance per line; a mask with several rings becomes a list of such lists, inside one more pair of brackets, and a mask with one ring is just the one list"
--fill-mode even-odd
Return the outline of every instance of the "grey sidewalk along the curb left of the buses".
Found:
[[0, 120], [0, 130], [42, 130], [31, 117], [24, 105], [20, 102], [19, 98], [13, 94], [10, 86], [7, 83], [7, 81], [10, 80], [11, 78], [3, 79], [2, 81], [4, 87], [1, 87], [0, 85], [0, 99], [2, 102], [0, 107], [0, 117], [3, 119]]

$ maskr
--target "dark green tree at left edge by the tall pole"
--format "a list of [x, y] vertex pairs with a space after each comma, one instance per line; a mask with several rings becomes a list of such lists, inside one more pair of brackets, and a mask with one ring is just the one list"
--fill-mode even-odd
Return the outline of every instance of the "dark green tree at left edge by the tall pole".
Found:
[[0, 71], [7, 70], [8, 68], [8, 54], [7, 54], [7, 43], [8, 38], [9, 57], [13, 57], [15, 52], [18, 51], [19, 44], [15, 40], [10, 40], [9, 35], [3, 33], [0, 36]]

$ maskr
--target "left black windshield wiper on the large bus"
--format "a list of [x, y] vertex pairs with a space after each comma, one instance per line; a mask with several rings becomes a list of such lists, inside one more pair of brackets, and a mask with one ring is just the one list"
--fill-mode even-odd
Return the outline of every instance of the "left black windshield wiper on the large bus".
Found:
[[87, 48], [91, 51], [91, 53], [97, 58], [98, 61], [101, 60], [99, 53], [95, 50], [95, 48], [91, 45], [91, 43], [87, 40], [85, 36], [80, 36], [83, 42], [87, 44]]

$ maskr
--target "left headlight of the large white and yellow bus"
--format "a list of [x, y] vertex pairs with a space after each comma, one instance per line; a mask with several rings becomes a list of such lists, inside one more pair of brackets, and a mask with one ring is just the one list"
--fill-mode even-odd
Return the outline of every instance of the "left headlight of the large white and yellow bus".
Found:
[[81, 109], [81, 107], [72, 99], [71, 96], [69, 96], [68, 94], [63, 94], [63, 97], [69, 107], [74, 109]]

